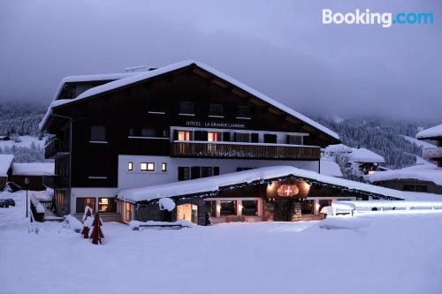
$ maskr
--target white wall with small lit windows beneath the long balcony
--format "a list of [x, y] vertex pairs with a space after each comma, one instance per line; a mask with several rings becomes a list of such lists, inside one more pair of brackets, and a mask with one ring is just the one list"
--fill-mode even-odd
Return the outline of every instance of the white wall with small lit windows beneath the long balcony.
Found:
[[[133, 170], [127, 170], [128, 162], [133, 162]], [[141, 162], [155, 162], [156, 171], [141, 171]], [[162, 163], [167, 163], [167, 171], [161, 171]], [[169, 156], [118, 155], [118, 191], [147, 185], [167, 184], [178, 181], [179, 166], [219, 167], [219, 174], [236, 172], [239, 167], [262, 168], [266, 166], [293, 166], [318, 172], [318, 161], [278, 161], [278, 160], [238, 160], [213, 158], [175, 158]]]

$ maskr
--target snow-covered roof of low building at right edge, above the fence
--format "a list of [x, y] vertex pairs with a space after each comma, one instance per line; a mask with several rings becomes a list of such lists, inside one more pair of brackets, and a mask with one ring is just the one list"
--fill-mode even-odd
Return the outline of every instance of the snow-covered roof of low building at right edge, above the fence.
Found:
[[442, 186], [442, 168], [434, 164], [414, 165], [400, 170], [385, 170], [366, 176], [371, 183], [397, 179], [415, 179]]

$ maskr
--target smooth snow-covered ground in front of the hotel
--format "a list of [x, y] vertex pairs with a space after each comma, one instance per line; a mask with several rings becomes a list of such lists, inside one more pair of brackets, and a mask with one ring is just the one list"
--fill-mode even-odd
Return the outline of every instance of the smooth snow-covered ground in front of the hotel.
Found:
[[[442, 213], [133, 231], [91, 245], [60, 222], [28, 233], [3, 194], [0, 293], [441, 293]], [[325, 230], [321, 226], [351, 229]]]

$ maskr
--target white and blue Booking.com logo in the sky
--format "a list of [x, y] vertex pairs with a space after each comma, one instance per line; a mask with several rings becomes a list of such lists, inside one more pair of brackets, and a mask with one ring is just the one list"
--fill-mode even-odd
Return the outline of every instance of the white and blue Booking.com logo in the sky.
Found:
[[392, 25], [432, 25], [433, 14], [430, 12], [399, 12], [395, 15], [392, 12], [371, 12], [370, 9], [354, 12], [333, 12], [331, 9], [323, 9], [323, 24], [347, 24], [347, 25], [381, 25], [390, 27]]

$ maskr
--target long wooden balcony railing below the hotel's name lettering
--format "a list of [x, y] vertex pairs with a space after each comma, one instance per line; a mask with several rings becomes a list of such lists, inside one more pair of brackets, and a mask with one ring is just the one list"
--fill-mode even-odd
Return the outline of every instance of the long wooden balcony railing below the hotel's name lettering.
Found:
[[171, 143], [171, 156], [177, 157], [318, 160], [319, 155], [319, 147], [300, 145], [206, 141], [174, 141]]

